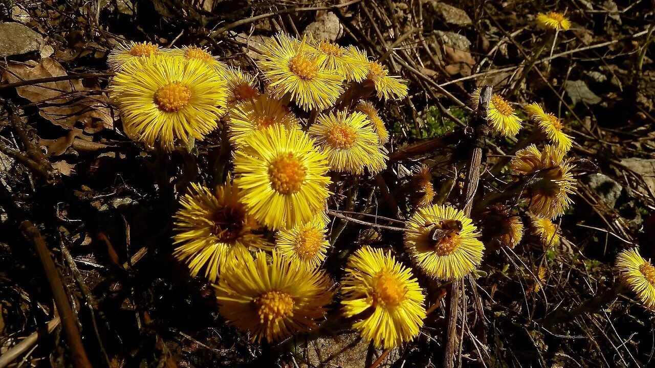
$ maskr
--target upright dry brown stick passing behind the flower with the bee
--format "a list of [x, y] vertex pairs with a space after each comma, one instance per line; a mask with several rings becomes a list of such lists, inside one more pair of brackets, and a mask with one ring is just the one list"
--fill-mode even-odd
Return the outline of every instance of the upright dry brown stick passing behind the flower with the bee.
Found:
[[[482, 88], [480, 92], [480, 100], [476, 111], [476, 119], [474, 120], [474, 148], [471, 151], [468, 160], [466, 183], [464, 183], [464, 193], [462, 193], [462, 201], [460, 203], [461, 210], [466, 216], [471, 215], [473, 198], [476, 195], [477, 184], [480, 180], [482, 149], [485, 147], [486, 138], [489, 134], [489, 125], [487, 125], [487, 109], [489, 109], [489, 100], [491, 100], [491, 86], [487, 84]], [[459, 309], [459, 300], [463, 287], [464, 286], [461, 280], [457, 280], [453, 282], [449, 288], [449, 303], [447, 313], [448, 329], [446, 330], [445, 354], [443, 356], [444, 368], [453, 368], [455, 367], [455, 362], [459, 361], [459, 359], [457, 359], [455, 356], [456, 352], [460, 352], [461, 344], [457, 333], [457, 312]]]

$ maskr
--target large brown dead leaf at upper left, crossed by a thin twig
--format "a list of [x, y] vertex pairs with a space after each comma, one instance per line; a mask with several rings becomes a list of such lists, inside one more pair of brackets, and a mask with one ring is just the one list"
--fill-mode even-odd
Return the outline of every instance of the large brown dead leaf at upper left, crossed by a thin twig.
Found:
[[[18, 81], [61, 77], [67, 75], [64, 67], [51, 58], [32, 65], [9, 63], [2, 73], [7, 83]], [[32, 101], [39, 107], [39, 114], [54, 124], [73, 129], [76, 124], [84, 132], [95, 133], [104, 128], [113, 128], [114, 118], [109, 108], [109, 100], [103, 94], [90, 96], [81, 80], [59, 81], [31, 84], [16, 88], [22, 98]]]

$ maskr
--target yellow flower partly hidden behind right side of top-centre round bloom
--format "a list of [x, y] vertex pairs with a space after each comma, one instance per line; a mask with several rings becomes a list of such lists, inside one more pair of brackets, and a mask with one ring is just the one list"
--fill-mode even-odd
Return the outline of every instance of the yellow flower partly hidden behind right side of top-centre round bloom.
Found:
[[323, 58], [322, 66], [336, 71], [346, 81], [361, 82], [368, 74], [366, 58], [354, 46], [342, 47], [327, 40], [310, 41], [307, 54]]

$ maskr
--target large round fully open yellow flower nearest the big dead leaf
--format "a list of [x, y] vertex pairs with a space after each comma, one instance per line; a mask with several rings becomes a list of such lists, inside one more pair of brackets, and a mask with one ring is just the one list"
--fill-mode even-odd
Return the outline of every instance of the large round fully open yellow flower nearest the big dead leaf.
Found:
[[153, 56], [126, 64], [112, 79], [109, 95], [128, 135], [170, 150], [177, 139], [202, 140], [217, 127], [225, 84], [199, 60]]

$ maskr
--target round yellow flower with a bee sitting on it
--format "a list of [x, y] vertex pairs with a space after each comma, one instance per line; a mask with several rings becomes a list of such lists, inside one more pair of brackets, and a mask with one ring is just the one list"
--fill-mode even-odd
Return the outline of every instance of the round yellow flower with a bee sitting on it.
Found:
[[464, 212], [434, 204], [412, 215], [405, 225], [405, 249], [432, 278], [457, 280], [478, 267], [485, 249], [473, 221]]

